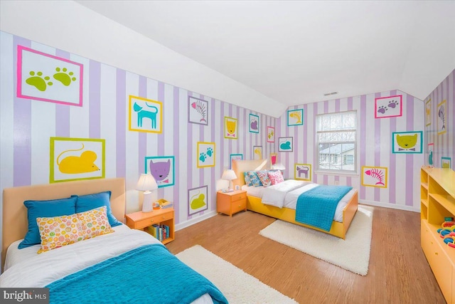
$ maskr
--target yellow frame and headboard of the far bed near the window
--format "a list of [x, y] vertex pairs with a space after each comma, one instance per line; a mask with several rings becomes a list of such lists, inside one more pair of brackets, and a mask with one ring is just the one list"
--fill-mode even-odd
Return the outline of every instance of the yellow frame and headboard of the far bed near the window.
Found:
[[[261, 169], [267, 169], [267, 160], [266, 159], [252, 159], [252, 160], [234, 160], [232, 161], [232, 169], [237, 176], [237, 179], [234, 179], [232, 182], [234, 186], [242, 187], [245, 184], [245, 179], [243, 178], [243, 172], [245, 171], [257, 171]], [[296, 211], [289, 208], [278, 208], [275, 206], [269, 206], [262, 204], [262, 200], [256, 196], [247, 195], [247, 210], [255, 211], [259, 214], [264, 214], [267, 216], [272, 216], [275, 219], [281, 219], [283, 221], [289, 221], [289, 223], [297, 224], [300, 226], [305, 226], [311, 229], [325, 232], [326, 234], [331, 234], [333, 236], [338, 236], [338, 238], [345, 239], [346, 232], [350, 226], [350, 222], [353, 220], [355, 212], [358, 208], [358, 192], [355, 191], [353, 197], [350, 199], [345, 209], [343, 209], [343, 222], [338, 221], [332, 222], [332, 227], [330, 231], [324, 231], [314, 226], [309, 226], [306, 224], [301, 224], [295, 221]]]

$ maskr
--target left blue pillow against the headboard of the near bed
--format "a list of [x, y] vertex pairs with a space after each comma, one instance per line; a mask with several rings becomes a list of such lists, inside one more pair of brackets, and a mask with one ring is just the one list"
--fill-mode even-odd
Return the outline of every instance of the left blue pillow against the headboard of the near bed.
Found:
[[76, 213], [76, 197], [52, 199], [48, 201], [24, 201], [27, 207], [28, 231], [18, 248], [26, 248], [41, 243], [40, 231], [36, 218], [71, 215]]

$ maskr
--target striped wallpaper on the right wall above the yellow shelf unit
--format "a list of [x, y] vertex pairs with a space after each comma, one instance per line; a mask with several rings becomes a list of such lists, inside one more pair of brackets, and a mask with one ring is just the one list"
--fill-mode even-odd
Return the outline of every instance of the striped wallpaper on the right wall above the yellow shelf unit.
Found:
[[[430, 100], [431, 124], [425, 123], [425, 147], [434, 143], [433, 166], [441, 167], [441, 157], [451, 158], [451, 169], [455, 170], [455, 70], [444, 79], [434, 91], [425, 98]], [[437, 105], [446, 100], [446, 132], [437, 132]], [[425, 164], [429, 164], [428, 150], [425, 149]]]

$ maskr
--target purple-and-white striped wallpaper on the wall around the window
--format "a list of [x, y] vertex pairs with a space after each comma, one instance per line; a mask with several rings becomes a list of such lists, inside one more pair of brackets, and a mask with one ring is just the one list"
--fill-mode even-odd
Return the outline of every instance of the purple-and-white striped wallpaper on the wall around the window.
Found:
[[[375, 98], [392, 95], [402, 95], [402, 116], [375, 119]], [[365, 204], [419, 211], [419, 169], [424, 164], [424, 154], [392, 153], [392, 132], [424, 130], [422, 100], [391, 90], [289, 108], [294, 109], [304, 109], [304, 125], [287, 127], [287, 113], [277, 120], [277, 136], [294, 137], [294, 152], [279, 152], [278, 156], [287, 167], [288, 177], [294, 177], [294, 164], [312, 164], [313, 182], [355, 187]], [[315, 172], [316, 115], [348, 110], [356, 110], [358, 117], [358, 172], [362, 166], [387, 167], [387, 188], [364, 187], [359, 174]]]

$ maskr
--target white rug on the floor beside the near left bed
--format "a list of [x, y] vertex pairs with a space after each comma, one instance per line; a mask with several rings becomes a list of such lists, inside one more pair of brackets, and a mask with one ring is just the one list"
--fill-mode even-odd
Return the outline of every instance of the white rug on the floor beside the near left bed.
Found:
[[230, 304], [296, 303], [199, 245], [177, 253], [176, 257], [215, 284]]

